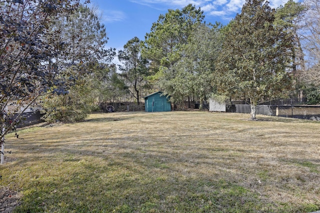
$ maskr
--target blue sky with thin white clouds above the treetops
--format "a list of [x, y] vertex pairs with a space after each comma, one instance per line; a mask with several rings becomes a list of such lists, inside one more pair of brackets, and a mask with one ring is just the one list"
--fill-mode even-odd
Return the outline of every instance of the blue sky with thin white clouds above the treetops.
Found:
[[[236, 13], [241, 11], [245, 0], [90, 0], [91, 6], [98, 8], [102, 22], [109, 37], [107, 48], [116, 50], [133, 38], [144, 40], [150, 32], [153, 22], [168, 9], [181, 9], [192, 3], [203, 10], [206, 22], [219, 21], [227, 24]], [[287, 0], [269, 0], [269, 5], [276, 8]]]

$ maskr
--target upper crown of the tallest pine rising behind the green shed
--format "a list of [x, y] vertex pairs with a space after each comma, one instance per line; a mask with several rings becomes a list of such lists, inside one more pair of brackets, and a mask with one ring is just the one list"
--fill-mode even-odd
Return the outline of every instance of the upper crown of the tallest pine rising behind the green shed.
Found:
[[155, 66], [171, 67], [180, 58], [179, 50], [186, 43], [194, 25], [202, 22], [203, 12], [188, 4], [182, 10], [168, 9], [159, 15], [157, 22], [145, 35], [142, 54], [155, 63]]

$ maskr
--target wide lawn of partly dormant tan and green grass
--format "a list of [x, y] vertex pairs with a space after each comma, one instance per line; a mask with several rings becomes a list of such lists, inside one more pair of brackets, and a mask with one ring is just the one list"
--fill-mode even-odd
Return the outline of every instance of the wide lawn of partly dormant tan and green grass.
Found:
[[92, 114], [11, 133], [14, 212], [298, 213], [320, 209], [320, 122], [208, 112]]

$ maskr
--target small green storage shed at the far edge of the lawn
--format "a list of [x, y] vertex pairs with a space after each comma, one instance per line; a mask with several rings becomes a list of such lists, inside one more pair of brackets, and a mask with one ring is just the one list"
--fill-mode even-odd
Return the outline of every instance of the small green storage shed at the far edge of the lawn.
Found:
[[144, 96], [145, 112], [167, 112], [171, 111], [171, 103], [169, 99], [162, 95], [162, 92], [154, 92]]

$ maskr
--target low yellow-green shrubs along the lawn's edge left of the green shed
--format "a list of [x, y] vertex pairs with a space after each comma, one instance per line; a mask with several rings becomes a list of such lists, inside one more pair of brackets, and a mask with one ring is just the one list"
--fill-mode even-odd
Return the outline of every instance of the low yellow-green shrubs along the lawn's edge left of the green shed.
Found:
[[100, 105], [125, 93], [126, 86], [116, 73], [115, 66], [98, 64], [92, 73], [75, 80], [65, 95], [47, 95], [43, 99], [43, 119], [48, 122], [78, 122]]

